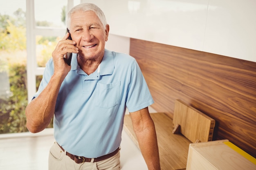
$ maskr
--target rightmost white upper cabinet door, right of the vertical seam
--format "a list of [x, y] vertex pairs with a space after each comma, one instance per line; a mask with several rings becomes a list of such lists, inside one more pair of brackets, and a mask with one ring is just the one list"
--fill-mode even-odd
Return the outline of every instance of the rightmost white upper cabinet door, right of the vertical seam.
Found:
[[256, 62], [256, 0], [209, 0], [203, 51]]

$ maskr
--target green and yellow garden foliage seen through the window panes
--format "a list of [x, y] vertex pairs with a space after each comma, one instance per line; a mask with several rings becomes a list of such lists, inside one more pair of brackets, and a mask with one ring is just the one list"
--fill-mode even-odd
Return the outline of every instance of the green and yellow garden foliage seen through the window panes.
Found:
[[[28, 104], [25, 12], [18, 9], [14, 14], [16, 18], [0, 14], [0, 81], [2, 75], [9, 77], [9, 91], [5, 96], [0, 95], [0, 134], [28, 131], [25, 116]], [[45, 22], [42, 26], [47, 24]], [[36, 38], [40, 46], [38, 66], [45, 66], [57, 42], [56, 37]], [[42, 76], [36, 76], [37, 88], [41, 79]], [[52, 122], [48, 127], [53, 127]]]

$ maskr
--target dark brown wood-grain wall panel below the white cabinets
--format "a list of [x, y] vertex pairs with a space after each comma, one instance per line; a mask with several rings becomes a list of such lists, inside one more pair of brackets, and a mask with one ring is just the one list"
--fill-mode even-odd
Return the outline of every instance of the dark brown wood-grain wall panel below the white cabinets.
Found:
[[216, 120], [213, 140], [228, 139], [256, 157], [256, 62], [130, 40], [155, 100], [173, 118], [176, 99]]

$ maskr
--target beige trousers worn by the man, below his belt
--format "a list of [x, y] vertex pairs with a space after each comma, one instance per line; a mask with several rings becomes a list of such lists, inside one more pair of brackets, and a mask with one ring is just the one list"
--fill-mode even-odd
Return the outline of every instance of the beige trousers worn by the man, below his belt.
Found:
[[76, 163], [54, 142], [48, 163], [49, 170], [120, 170], [120, 152], [103, 161]]

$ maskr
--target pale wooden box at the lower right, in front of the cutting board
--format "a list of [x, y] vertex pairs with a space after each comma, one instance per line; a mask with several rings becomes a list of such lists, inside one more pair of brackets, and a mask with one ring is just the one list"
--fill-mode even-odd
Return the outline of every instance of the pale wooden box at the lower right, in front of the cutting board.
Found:
[[256, 170], [256, 165], [227, 146], [227, 141], [190, 144], [186, 170]]

